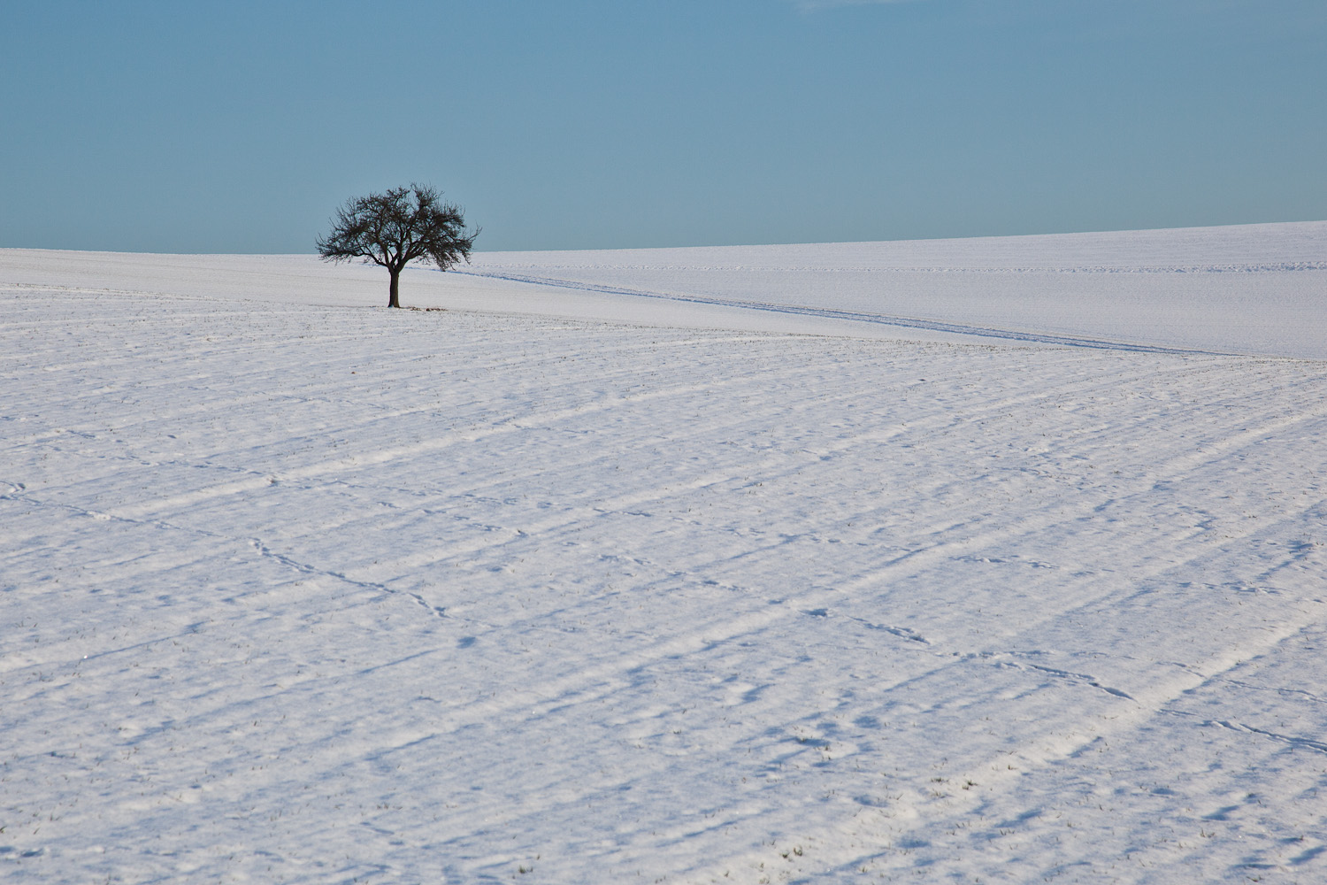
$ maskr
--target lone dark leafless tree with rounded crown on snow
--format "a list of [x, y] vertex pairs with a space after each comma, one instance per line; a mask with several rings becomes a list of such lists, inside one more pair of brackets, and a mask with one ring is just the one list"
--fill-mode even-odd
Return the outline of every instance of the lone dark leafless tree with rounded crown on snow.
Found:
[[332, 232], [318, 238], [318, 255], [329, 261], [364, 259], [381, 264], [391, 275], [389, 308], [399, 308], [397, 284], [401, 269], [422, 259], [446, 271], [456, 261], [470, 260], [479, 230], [466, 232], [459, 207], [442, 202], [431, 187], [393, 187], [386, 194], [369, 194], [346, 200], [332, 219]]

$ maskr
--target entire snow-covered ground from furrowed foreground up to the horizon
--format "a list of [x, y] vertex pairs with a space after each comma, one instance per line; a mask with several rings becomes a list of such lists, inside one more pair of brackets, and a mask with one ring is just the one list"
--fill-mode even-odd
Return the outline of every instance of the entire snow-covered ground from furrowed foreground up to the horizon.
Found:
[[5, 882], [1327, 881], [1327, 223], [0, 249]]

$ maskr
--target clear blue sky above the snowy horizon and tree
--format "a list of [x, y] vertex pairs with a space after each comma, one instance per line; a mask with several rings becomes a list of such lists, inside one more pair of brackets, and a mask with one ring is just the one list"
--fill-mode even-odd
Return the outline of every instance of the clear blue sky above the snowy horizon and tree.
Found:
[[492, 249], [1327, 219], [1322, 0], [0, 0], [0, 247]]

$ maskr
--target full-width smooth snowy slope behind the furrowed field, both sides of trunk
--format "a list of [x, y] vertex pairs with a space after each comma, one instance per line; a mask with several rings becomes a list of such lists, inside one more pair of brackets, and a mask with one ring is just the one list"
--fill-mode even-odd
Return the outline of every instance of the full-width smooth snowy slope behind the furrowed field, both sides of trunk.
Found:
[[[0, 283], [275, 303], [385, 301], [313, 256], [0, 249]], [[480, 252], [406, 304], [682, 328], [1327, 358], [1327, 222], [1042, 236]]]

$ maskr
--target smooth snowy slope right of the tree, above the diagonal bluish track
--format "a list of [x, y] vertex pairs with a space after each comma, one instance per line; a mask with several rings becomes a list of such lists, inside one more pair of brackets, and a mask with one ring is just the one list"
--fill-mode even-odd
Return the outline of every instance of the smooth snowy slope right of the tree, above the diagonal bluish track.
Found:
[[1327, 222], [476, 256], [529, 283], [861, 324], [1327, 358]]

